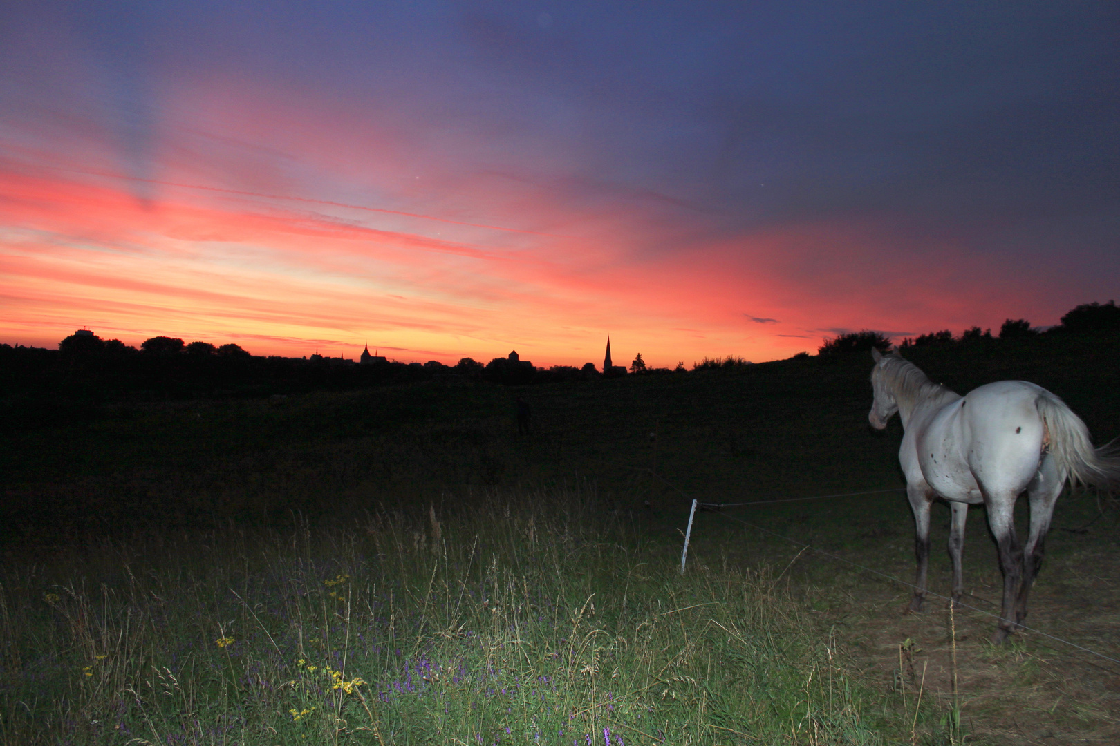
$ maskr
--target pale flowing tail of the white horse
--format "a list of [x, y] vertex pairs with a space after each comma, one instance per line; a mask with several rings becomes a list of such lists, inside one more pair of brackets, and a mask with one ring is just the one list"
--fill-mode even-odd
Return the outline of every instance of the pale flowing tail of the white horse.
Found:
[[1035, 405], [1043, 418], [1051, 455], [1074, 484], [1120, 488], [1120, 448], [1114, 442], [1093, 448], [1085, 423], [1049, 391], [1044, 390]]

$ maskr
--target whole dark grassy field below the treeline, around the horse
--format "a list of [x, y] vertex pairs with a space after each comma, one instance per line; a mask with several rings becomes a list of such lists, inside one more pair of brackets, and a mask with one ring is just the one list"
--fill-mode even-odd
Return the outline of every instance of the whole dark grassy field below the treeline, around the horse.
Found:
[[[961, 391], [1046, 386], [1103, 442], [1120, 434], [1118, 352], [1026, 339], [911, 357]], [[866, 425], [869, 371], [860, 356], [521, 389], [8, 405], [0, 735], [1117, 743], [1120, 667], [1032, 634], [992, 649], [977, 612], [952, 635], [937, 603], [903, 614], [907, 588], [797, 544], [908, 579], [900, 493], [701, 513], [676, 572], [685, 495], [902, 485], [897, 422]], [[979, 608], [999, 578], [983, 520], [972, 511], [965, 558]], [[1112, 658], [1117, 522], [1108, 495], [1063, 498], [1028, 618]], [[946, 565], [934, 557], [934, 591]]]

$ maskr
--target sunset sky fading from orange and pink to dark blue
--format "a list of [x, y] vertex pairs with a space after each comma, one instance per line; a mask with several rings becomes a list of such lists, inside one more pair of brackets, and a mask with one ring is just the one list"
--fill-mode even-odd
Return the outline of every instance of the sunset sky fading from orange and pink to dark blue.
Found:
[[[94, 7], [95, 6], [95, 7]], [[0, 4], [0, 342], [655, 366], [1120, 296], [1120, 4]]]

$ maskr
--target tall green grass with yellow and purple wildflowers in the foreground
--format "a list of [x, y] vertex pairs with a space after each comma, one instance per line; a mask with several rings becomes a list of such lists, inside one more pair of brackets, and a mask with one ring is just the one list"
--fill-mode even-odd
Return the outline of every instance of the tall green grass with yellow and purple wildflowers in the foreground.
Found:
[[594, 492], [522, 490], [9, 561], [0, 737], [880, 743], [768, 567], [681, 577], [646, 536]]

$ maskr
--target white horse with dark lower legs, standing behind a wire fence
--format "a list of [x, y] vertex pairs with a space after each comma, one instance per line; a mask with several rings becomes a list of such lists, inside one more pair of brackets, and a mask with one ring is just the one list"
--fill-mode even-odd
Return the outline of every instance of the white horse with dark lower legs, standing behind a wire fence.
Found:
[[[992, 636], [999, 644], [1027, 615], [1027, 596], [1042, 567], [1043, 544], [1065, 480], [1116, 485], [1120, 457], [1110, 446], [1094, 451], [1085, 423], [1040, 386], [1001, 380], [962, 397], [931, 381], [897, 351], [871, 355], [871, 426], [883, 429], [897, 412], [905, 431], [898, 461], [917, 531], [917, 587], [911, 608], [921, 611], [925, 599], [930, 506], [942, 498], [953, 511], [949, 554], [956, 603], [964, 593], [964, 521], [970, 504], [983, 503], [1004, 570], [1002, 617]], [[1015, 501], [1024, 491], [1030, 500], [1025, 548], [1015, 535]]]

